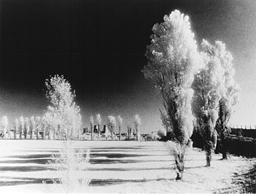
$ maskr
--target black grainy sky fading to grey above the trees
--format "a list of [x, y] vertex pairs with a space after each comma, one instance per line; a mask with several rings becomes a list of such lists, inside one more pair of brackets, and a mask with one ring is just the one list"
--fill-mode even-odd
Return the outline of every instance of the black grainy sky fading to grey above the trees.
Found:
[[47, 106], [45, 78], [63, 74], [76, 90], [84, 126], [91, 114], [101, 114], [103, 122], [117, 114], [131, 122], [139, 114], [145, 131], [161, 128], [161, 98], [141, 73], [153, 25], [179, 9], [189, 15], [199, 43], [203, 38], [224, 41], [239, 69], [250, 56], [237, 44], [245, 36], [243, 28], [256, 19], [254, 1], [0, 2], [2, 115], [42, 115]]

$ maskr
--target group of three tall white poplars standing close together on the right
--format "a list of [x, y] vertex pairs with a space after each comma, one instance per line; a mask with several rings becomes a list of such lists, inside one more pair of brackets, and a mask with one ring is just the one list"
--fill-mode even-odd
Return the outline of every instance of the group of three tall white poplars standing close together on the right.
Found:
[[161, 112], [161, 119], [173, 137], [170, 149], [175, 156], [177, 179], [181, 179], [193, 127], [203, 137], [210, 166], [214, 130], [221, 140], [225, 139], [239, 88], [233, 79], [233, 58], [225, 44], [216, 41], [211, 45], [203, 40], [199, 52], [188, 16], [175, 10], [163, 20], [153, 26], [143, 73], [163, 97], [166, 113]]

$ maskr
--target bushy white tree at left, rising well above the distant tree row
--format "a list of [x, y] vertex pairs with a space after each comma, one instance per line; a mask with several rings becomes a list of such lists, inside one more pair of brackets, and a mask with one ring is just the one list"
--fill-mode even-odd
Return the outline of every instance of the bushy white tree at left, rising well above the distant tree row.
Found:
[[77, 119], [80, 112], [79, 106], [75, 104], [75, 91], [72, 92], [71, 84], [63, 75], [55, 75], [47, 79], [45, 86], [47, 88], [46, 96], [51, 102], [47, 112], [52, 117], [56, 117], [57, 135], [65, 140], [73, 138], [74, 120]]

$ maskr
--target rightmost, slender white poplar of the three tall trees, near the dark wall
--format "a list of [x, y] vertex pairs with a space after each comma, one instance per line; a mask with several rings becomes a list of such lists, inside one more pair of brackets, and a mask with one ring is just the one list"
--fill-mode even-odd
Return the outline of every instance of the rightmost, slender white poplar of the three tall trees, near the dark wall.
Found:
[[216, 41], [215, 47], [218, 48], [216, 55], [224, 69], [224, 92], [221, 100], [219, 100], [219, 116], [216, 129], [220, 136], [222, 157], [227, 159], [227, 126], [234, 112], [234, 106], [239, 101], [239, 86], [234, 80], [235, 69], [233, 68], [231, 53], [226, 50], [225, 44], [221, 41]]

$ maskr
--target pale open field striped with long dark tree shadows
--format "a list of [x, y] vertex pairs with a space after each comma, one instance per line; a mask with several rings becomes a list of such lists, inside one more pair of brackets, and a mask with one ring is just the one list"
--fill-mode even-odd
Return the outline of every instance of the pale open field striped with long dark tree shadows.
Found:
[[[74, 142], [76, 149], [91, 150], [88, 187], [75, 193], [229, 193], [245, 191], [246, 175], [256, 159], [231, 155], [221, 161], [213, 154], [212, 167], [205, 167], [205, 153], [187, 150], [183, 181], [175, 181], [175, 165], [162, 142]], [[1, 140], [0, 193], [57, 191], [43, 185], [57, 177], [47, 164], [61, 141]]]

